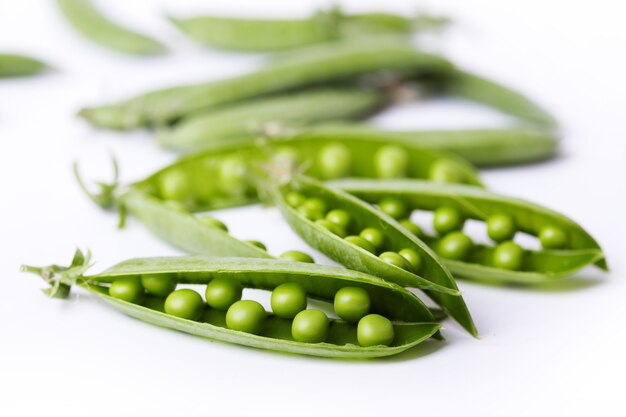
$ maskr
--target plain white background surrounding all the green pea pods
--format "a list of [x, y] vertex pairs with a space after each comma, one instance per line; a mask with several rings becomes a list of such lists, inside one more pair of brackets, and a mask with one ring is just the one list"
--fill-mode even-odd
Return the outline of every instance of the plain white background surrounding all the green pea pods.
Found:
[[[91, 129], [74, 117], [81, 105], [232, 76], [262, 61], [203, 50], [176, 33], [162, 18], [165, 12], [297, 16], [315, 2], [98, 3], [173, 52], [121, 56], [76, 36], [50, 2], [0, 2], [0, 50], [32, 53], [57, 68], [41, 77], [0, 81], [0, 415], [626, 415], [621, 2], [419, 3], [456, 20], [433, 48], [528, 93], [563, 123], [559, 159], [487, 171], [486, 183], [579, 221], [601, 242], [613, 269], [584, 270], [542, 288], [461, 282], [479, 340], [446, 322], [447, 342], [367, 362], [212, 343], [132, 320], [89, 296], [46, 299], [39, 291], [43, 282], [17, 273], [20, 263], [68, 262], [76, 246], [94, 252], [98, 269], [130, 257], [177, 253], [134, 221], [116, 230], [115, 216], [81, 195], [70, 170], [77, 159], [88, 177], [107, 179], [113, 152], [123, 178], [132, 180], [174, 158], [156, 149], [145, 132]], [[415, 9], [390, 0], [348, 6]], [[507, 120], [477, 107], [434, 102], [405, 106], [377, 122], [408, 128]], [[218, 217], [235, 236], [261, 239], [272, 253], [306, 249], [273, 209]]]

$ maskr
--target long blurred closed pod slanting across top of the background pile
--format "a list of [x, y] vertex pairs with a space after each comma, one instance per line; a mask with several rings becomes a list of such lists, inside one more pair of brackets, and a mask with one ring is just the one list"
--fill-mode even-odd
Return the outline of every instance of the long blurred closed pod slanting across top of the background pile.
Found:
[[250, 74], [153, 91], [121, 103], [86, 108], [80, 114], [95, 126], [131, 129], [163, 125], [196, 111], [269, 93], [352, 80], [379, 71], [419, 74], [451, 69], [447, 60], [416, 51], [406, 40], [363, 38], [304, 48]]

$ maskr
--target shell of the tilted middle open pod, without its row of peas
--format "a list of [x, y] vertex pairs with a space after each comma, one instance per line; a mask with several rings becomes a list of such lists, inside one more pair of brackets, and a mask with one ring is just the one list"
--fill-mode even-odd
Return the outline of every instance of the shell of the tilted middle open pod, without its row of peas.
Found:
[[[332, 208], [347, 211], [359, 226], [358, 230], [365, 227], [378, 228], [386, 235], [391, 250], [396, 252], [405, 248], [415, 250], [424, 261], [420, 275], [389, 265], [376, 255], [346, 242], [324, 227], [306, 219], [285, 201], [286, 193], [295, 190], [308, 197], [320, 198]], [[274, 200], [291, 228], [312, 247], [350, 269], [369, 273], [402, 286], [423, 289], [469, 333], [477, 335], [472, 317], [450, 272], [425, 243], [408, 233], [391, 217], [356, 197], [304, 176], [294, 177], [288, 184], [281, 186], [275, 192]]]

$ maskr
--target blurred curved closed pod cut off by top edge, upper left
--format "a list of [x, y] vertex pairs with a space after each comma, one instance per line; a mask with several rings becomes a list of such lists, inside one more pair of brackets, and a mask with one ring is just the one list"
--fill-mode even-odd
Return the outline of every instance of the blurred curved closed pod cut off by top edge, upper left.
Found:
[[165, 52], [163, 44], [112, 22], [89, 0], [57, 0], [57, 5], [74, 29], [101, 46], [131, 55]]

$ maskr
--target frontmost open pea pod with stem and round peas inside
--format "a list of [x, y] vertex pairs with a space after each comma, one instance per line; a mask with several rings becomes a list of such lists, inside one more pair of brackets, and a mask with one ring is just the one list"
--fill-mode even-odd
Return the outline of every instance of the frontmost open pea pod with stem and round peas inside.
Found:
[[[156, 326], [278, 352], [330, 358], [389, 356], [437, 336], [441, 327], [412, 293], [339, 267], [269, 259], [174, 257], [131, 259], [96, 275], [86, 275], [88, 268], [88, 256], [77, 252], [68, 268], [24, 266], [22, 270], [43, 277], [52, 296], [66, 297], [76, 285]], [[176, 289], [178, 284], [202, 286], [206, 303], [194, 289]], [[216, 292], [211, 287], [234, 292]], [[290, 290], [285, 291], [286, 287]], [[59, 288], [66, 290], [59, 294]], [[300, 311], [293, 318], [292, 314], [283, 318], [268, 313], [257, 301], [242, 300], [242, 288], [280, 291], [282, 304], [273, 302], [272, 309], [284, 311], [289, 306], [292, 313]], [[338, 298], [340, 292], [365, 294], [367, 308], [362, 309], [358, 299]], [[294, 293], [305, 295], [304, 305], [294, 307]], [[362, 313], [357, 320], [328, 319], [319, 309], [304, 310], [308, 298], [327, 303], [334, 299], [342, 306], [340, 312], [348, 308]], [[216, 304], [217, 299], [226, 302]]]

